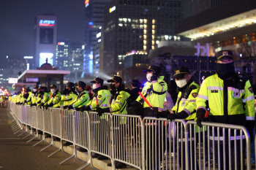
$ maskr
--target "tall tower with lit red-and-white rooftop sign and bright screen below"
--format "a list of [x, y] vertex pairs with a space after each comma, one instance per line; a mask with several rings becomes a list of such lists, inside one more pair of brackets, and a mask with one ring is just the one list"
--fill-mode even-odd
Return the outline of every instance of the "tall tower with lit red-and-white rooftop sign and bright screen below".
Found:
[[57, 17], [53, 15], [38, 15], [35, 25], [36, 66], [42, 66], [46, 58], [53, 66], [56, 64], [56, 37], [57, 37]]

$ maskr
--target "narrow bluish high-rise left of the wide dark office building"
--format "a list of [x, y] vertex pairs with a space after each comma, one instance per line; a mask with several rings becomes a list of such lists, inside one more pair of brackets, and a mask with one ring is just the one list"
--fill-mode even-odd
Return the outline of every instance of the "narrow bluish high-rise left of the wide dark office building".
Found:
[[[97, 34], [99, 27], [104, 23], [105, 6], [110, 0], [85, 1], [85, 47], [83, 54], [83, 77], [93, 75], [93, 65], [96, 53]], [[98, 58], [98, 57], [97, 57]]]

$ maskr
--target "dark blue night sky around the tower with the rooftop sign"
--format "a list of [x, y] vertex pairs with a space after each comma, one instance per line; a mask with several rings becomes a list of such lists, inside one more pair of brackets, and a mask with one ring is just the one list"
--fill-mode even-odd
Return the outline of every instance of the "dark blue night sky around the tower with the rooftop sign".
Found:
[[35, 18], [45, 13], [57, 16], [57, 40], [83, 43], [84, 10], [83, 0], [1, 0], [0, 60], [33, 55]]

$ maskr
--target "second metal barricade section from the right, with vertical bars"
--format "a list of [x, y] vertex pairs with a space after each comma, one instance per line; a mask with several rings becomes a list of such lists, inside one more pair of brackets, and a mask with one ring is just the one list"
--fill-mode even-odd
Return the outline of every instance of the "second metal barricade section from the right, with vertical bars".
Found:
[[143, 119], [145, 169], [185, 169], [185, 120]]

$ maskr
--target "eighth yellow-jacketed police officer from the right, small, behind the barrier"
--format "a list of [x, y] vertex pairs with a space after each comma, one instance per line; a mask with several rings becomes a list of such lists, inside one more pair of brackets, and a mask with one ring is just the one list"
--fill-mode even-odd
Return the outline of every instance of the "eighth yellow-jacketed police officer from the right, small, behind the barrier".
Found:
[[61, 93], [57, 89], [56, 85], [50, 85], [50, 100], [45, 105], [45, 109], [48, 107], [59, 108], [61, 107]]

